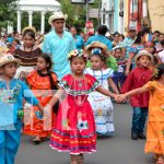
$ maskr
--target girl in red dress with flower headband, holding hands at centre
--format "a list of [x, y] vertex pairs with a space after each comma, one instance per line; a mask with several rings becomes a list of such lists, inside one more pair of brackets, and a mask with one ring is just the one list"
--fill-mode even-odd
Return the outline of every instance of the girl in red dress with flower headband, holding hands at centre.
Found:
[[86, 58], [82, 50], [73, 50], [69, 55], [72, 74], [67, 74], [60, 82], [58, 91], [48, 106], [52, 106], [62, 95], [52, 133], [50, 147], [59, 152], [70, 152], [71, 164], [83, 164], [83, 153], [96, 151], [96, 131], [94, 116], [87, 95], [94, 90], [115, 97], [115, 94], [103, 89], [98, 81], [84, 74]]

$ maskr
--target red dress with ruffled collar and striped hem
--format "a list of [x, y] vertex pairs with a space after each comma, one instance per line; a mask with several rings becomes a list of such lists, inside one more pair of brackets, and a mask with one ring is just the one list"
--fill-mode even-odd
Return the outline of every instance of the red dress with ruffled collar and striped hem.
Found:
[[95, 152], [95, 122], [87, 94], [97, 87], [98, 82], [90, 74], [81, 81], [68, 74], [60, 85], [66, 91], [66, 98], [59, 107], [49, 145], [70, 154]]

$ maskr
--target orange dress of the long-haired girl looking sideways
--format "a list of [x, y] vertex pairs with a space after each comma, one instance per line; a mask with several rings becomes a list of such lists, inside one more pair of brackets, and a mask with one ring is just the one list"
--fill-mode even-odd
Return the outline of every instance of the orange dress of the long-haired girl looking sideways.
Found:
[[[51, 75], [54, 82], [57, 82], [57, 75], [55, 73]], [[40, 77], [37, 71], [32, 71], [27, 77], [27, 82], [39, 103], [43, 106], [48, 104], [52, 96], [49, 77]], [[48, 137], [51, 133], [51, 127], [56, 116], [52, 113], [50, 117], [51, 119], [48, 121], [50, 125], [47, 126], [47, 120], [39, 116], [37, 107], [33, 107], [31, 110], [28, 109], [28, 112], [25, 112], [24, 133], [42, 138]]]

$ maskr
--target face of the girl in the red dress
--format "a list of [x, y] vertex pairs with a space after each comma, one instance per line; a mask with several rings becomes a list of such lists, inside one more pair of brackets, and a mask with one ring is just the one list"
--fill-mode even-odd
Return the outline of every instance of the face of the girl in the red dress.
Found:
[[75, 74], [82, 74], [85, 69], [86, 62], [83, 58], [75, 57], [71, 61], [71, 70]]

